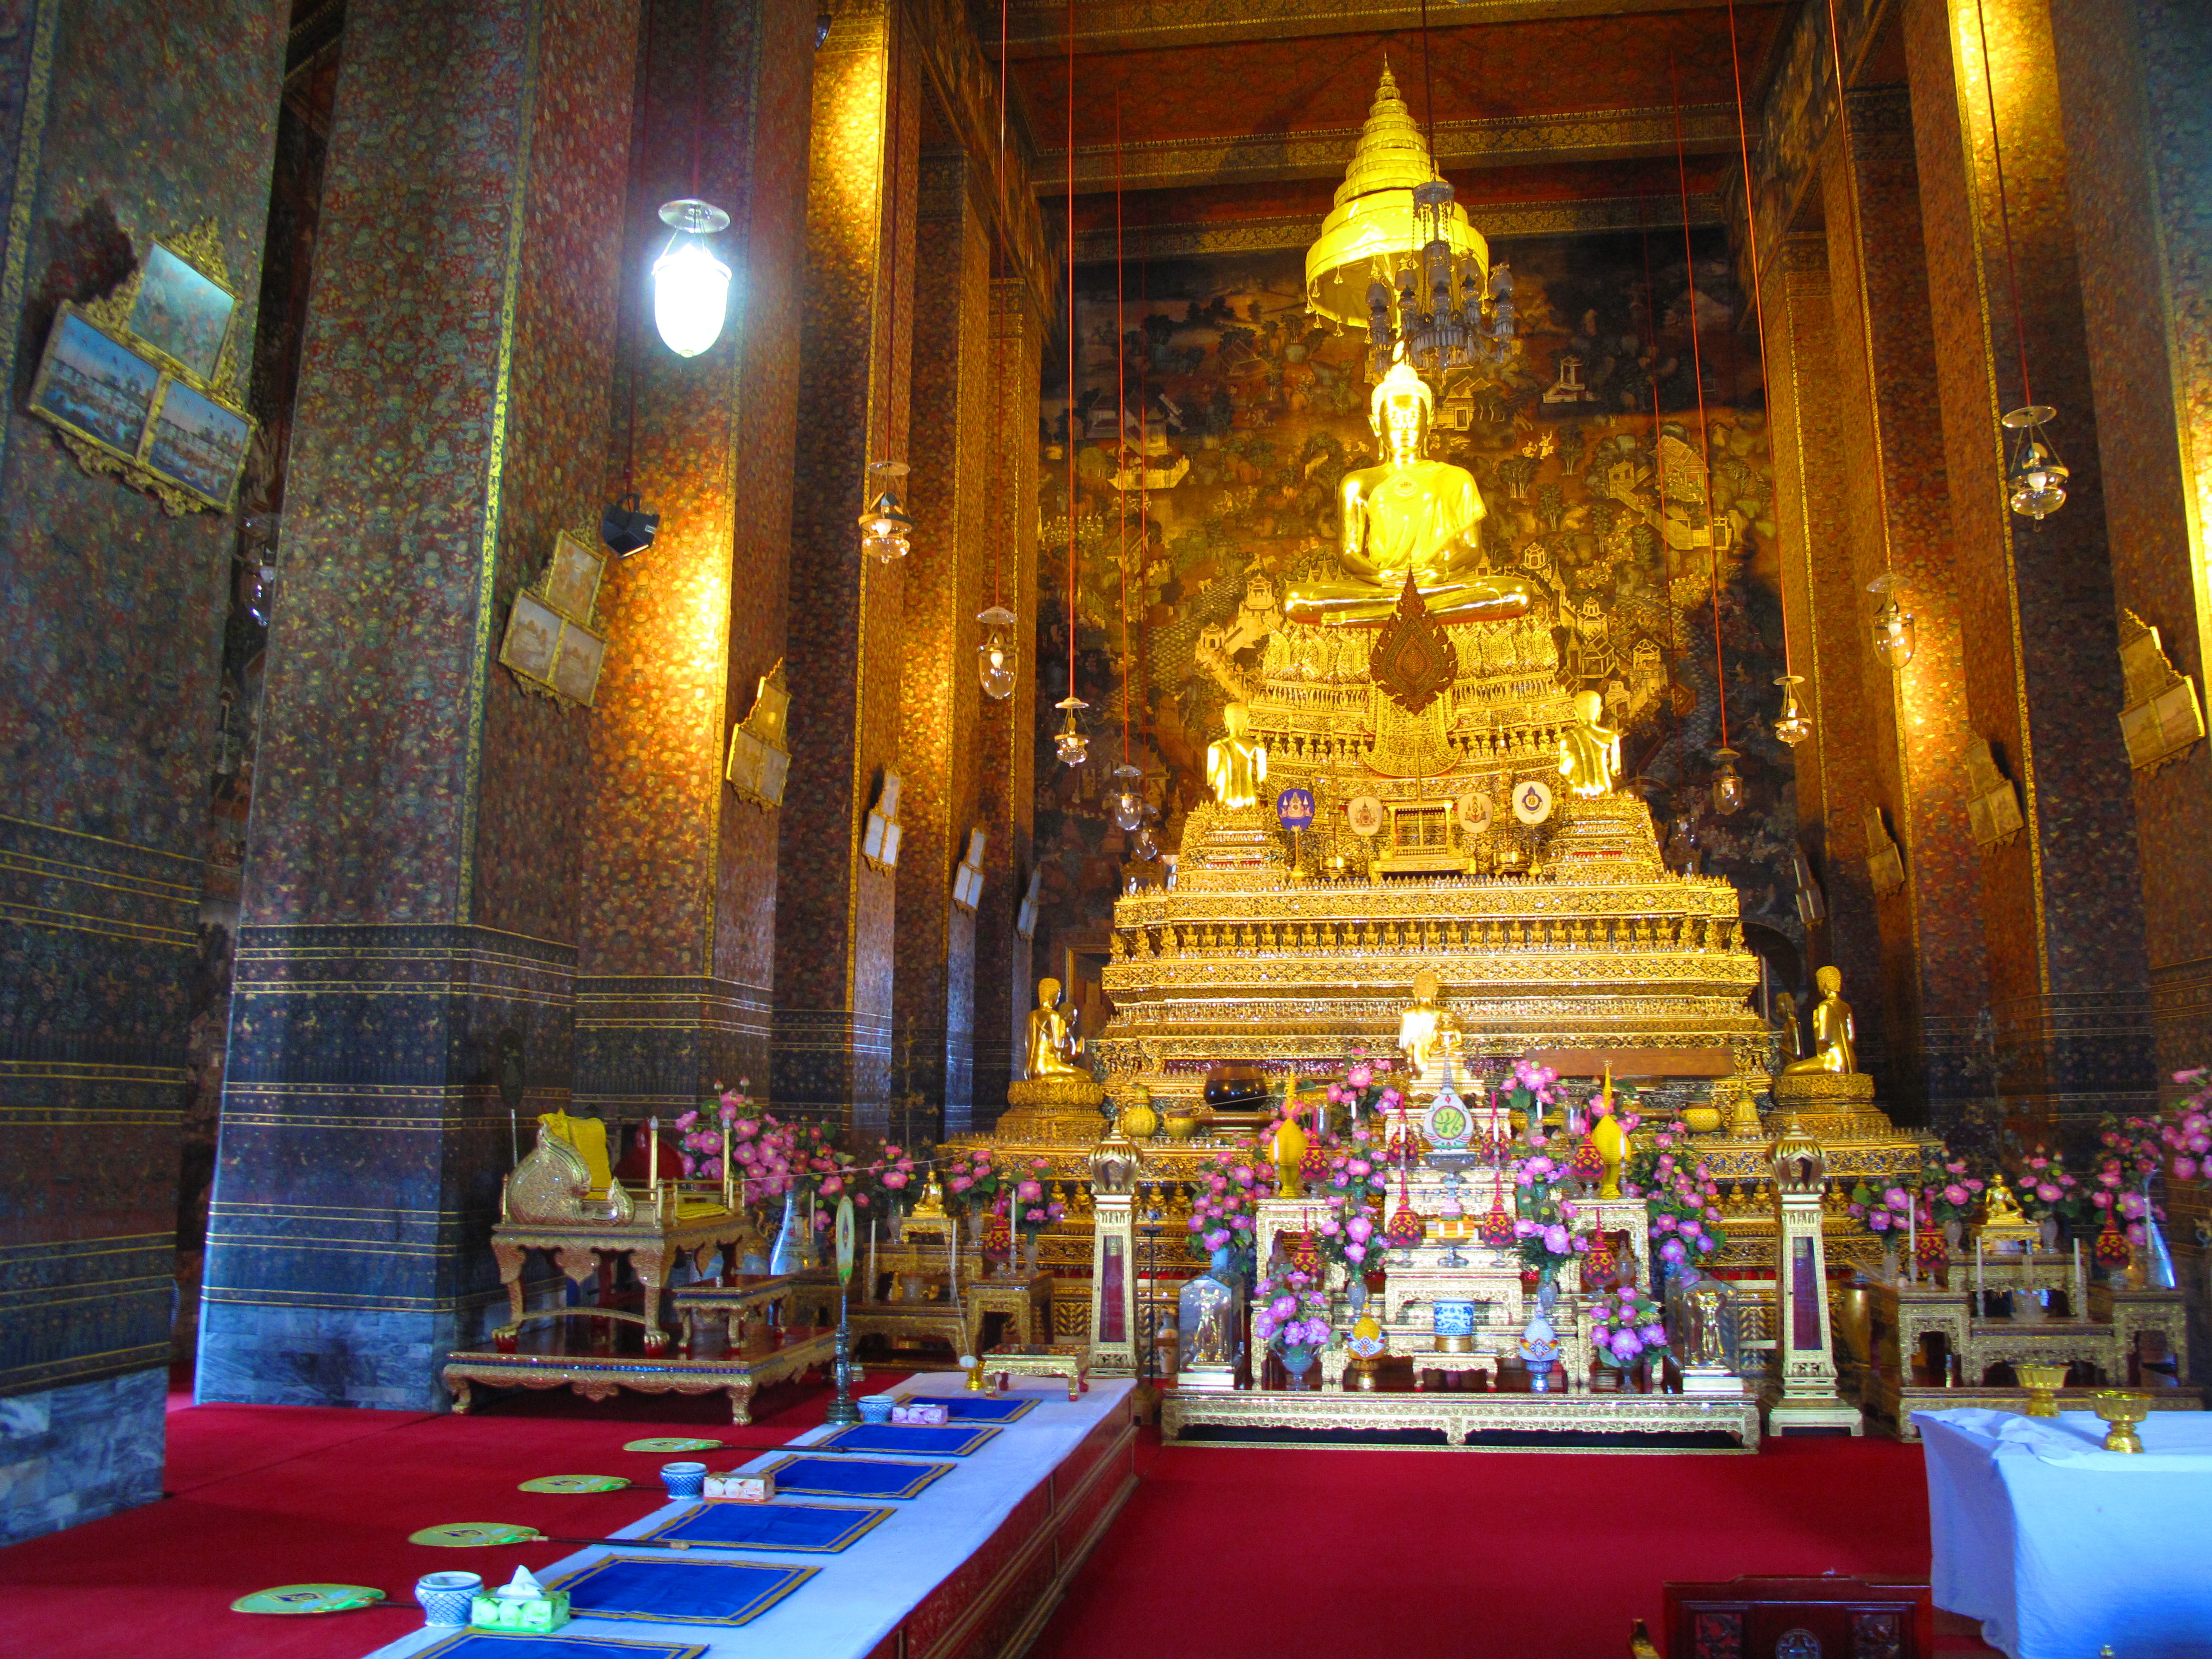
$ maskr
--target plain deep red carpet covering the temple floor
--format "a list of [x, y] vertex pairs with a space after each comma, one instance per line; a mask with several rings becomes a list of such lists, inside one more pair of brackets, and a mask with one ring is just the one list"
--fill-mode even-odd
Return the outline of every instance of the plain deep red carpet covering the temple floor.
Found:
[[[891, 1387], [872, 1374], [872, 1387]], [[170, 1498], [0, 1551], [9, 1650], [40, 1659], [358, 1659], [418, 1626], [414, 1579], [504, 1577], [568, 1544], [438, 1551], [407, 1533], [518, 1522], [604, 1537], [655, 1506], [653, 1433], [774, 1447], [825, 1389], [732, 1429], [721, 1396], [526, 1396], [480, 1416], [179, 1409]], [[781, 1409], [779, 1409], [781, 1407]], [[533, 1475], [644, 1489], [551, 1498]], [[1146, 1447], [1144, 1480], [1035, 1659], [1615, 1659], [1663, 1579], [1896, 1573], [1929, 1562], [1920, 1449], [1794, 1440], [1763, 1455], [1528, 1455]], [[254, 1619], [274, 1584], [374, 1584], [392, 1604]], [[1971, 1646], [1958, 1650], [1973, 1650]], [[807, 1659], [792, 1655], [790, 1659]]]

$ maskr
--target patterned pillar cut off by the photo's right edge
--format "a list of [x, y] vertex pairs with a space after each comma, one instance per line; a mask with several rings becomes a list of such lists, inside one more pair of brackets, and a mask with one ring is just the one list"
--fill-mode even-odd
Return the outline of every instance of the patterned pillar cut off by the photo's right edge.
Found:
[[[2190, 0], [2051, 9], [2112, 599], [2159, 630], [2137, 644], [2146, 692], [2212, 659], [2212, 11]], [[2073, 451], [2068, 451], [2073, 460]], [[2124, 639], [2126, 644], [2126, 639]], [[2159, 657], [2163, 655], [2163, 661]], [[2174, 734], [2177, 739], [2181, 732]], [[2152, 1024], [2161, 1084], [2212, 1055], [2212, 748], [2152, 741], [2135, 763]], [[2179, 1232], [2179, 1230], [2177, 1230]]]

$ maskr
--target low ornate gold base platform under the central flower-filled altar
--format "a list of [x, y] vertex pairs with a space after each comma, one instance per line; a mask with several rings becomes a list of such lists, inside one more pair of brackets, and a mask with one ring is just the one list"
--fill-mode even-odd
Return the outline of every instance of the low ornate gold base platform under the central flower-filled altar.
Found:
[[[1245, 1389], [1197, 1394], [1168, 1389], [1159, 1405], [1164, 1440], [1203, 1429], [1283, 1429], [1340, 1433], [1433, 1429], [1464, 1447], [1475, 1433], [1725, 1433], [1759, 1447], [1759, 1400], [1692, 1394], [1336, 1394]], [[1239, 1440], [1239, 1444], [1254, 1444]], [[1296, 1442], [1305, 1444], [1305, 1442]]]

